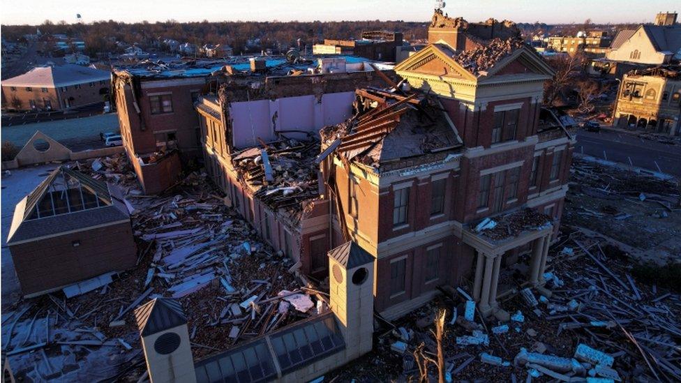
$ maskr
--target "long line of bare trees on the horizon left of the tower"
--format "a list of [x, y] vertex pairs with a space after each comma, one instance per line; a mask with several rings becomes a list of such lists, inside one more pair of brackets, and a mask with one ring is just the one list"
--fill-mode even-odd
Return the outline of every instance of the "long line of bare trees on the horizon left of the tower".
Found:
[[[91, 22], [89, 24], [67, 24], [45, 20], [40, 25], [3, 25], [2, 35], [6, 40], [21, 40], [24, 35], [36, 33], [66, 34], [70, 38], [85, 41], [88, 54], [117, 52], [117, 42], [126, 45], [137, 44], [143, 49], [160, 47], [165, 39], [179, 43], [227, 44], [235, 54], [257, 52], [267, 48], [287, 49], [302, 45], [311, 47], [324, 38], [359, 38], [362, 31], [385, 30], [404, 33], [405, 40], [421, 40], [427, 36], [427, 22], [403, 21], [340, 21], [340, 22], [137, 22], [124, 23], [114, 20]], [[259, 40], [253, 44], [254, 40]]]

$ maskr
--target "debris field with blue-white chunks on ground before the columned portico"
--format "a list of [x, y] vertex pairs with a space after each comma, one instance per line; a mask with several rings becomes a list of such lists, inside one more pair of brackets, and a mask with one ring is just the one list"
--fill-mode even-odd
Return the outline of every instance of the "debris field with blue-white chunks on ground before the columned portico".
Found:
[[[513, 292], [499, 299], [512, 313], [502, 323], [483, 320], [465, 288], [443, 289], [442, 296], [398, 322], [382, 321], [374, 351], [335, 375], [341, 381], [418, 380], [417, 350], [424, 347], [437, 359], [433, 319], [446, 310], [441, 342], [447, 382], [680, 380], [681, 296], [638, 279], [631, 264], [612, 251], [602, 239], [562, 233], [544, 274], [551, 296], [523, 287], [526, 278], [517, 278]], [[437, 377], [435, 365], [428, 373]]]

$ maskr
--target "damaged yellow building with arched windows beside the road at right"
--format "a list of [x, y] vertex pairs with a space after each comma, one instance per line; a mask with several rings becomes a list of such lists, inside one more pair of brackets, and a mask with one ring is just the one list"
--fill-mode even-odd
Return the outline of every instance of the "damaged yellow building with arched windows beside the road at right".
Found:
[[681, 135], [681, 68], [632, 70], [624, 75], [615, 105], [615, 125]]

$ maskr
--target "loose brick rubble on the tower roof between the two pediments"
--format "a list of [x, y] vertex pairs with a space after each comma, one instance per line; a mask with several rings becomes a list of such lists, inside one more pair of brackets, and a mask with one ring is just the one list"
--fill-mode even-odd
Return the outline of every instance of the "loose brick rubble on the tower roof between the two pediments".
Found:
[[454, 60], [460, 63], [463, 68], [469, 70], [470, 73], [478, 75], [480, 72], [492, 68], [501, 59], [507, 57], [523, 45], [525, 43], [521, 38], [509, 38], [506, 40], [495, 38], [481, 45], [481, 47], [462, 51], [454, 57]]

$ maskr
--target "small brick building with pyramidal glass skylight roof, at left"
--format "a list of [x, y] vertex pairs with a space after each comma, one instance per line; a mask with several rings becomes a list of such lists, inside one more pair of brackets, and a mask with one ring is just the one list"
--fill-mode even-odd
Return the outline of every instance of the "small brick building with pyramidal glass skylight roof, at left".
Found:
[[7, 245], [24, 296], [135, 266], [120, 190], [65, 165], [17, 204]]

